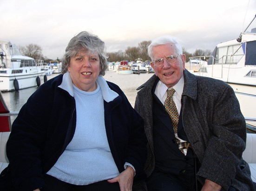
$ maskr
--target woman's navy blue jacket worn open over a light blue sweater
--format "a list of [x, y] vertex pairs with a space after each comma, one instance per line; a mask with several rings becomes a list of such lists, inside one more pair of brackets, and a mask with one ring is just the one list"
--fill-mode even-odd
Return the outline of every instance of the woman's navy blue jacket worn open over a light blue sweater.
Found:
[[[58, 86], [63, 75], [42, 84], [13, 122], [7, 142], [7, 157], [13, 185], [19, 190], [44, 187], [43, 175], [56, 163], [72, 140], [76, 128], [75, 99]], [[123, 91], [107, 82], [118, 93], [112, 102], [104, 101], [108, 143], [119, 172], [125, 162], [143, 177], [146, 160], [144, 121], [131, 107]]]

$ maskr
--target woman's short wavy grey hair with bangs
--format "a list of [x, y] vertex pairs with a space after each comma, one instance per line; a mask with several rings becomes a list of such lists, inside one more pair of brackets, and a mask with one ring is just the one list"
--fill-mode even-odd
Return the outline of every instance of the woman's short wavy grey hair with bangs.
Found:
[[99, 75], [104, 76], [107, 70], [107, 55], [105, 54], [105, 43], [98, 38], [98, 36], [93, 35], [89, 32], [82, 31], [78, 35], [71, 38], [69, 41], [65, 54], [62, 59], [61, 73], [67, 72], [67, 67], [70, 63], [70, 58], [77, 56], [81, 49], [85, 48], [89, 52], [98, 52], [100, 69]]

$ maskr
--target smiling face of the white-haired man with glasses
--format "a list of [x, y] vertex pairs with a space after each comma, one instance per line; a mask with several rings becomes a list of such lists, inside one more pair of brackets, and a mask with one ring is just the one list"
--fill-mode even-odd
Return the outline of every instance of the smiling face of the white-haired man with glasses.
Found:
[[173, 58], [173, 63], [169, 64], [166, 59], [161, 66], [156, 67], [151, 63], [151, 67], [155, 70], [155, 75], [159, 77], [162, 83], [164, 83], [168, 88], [173, 87], [180, 78], [183, 76], [183, 71], [185, 70], [185, 55], [176, 55], [175, 47], [173, 44], [158, 45], [152, 47], [152, 55], [154, 60], [159, 58], [169, 57], [171, 55], [178, 56]]

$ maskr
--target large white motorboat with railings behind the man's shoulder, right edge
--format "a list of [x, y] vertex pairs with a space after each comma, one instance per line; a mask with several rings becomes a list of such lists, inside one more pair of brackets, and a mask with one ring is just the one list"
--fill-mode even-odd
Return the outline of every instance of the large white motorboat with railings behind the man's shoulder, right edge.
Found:
[[[198, 71], [190, 70], [195, 59]], [[245, 118], [256, 118], [256, 16], [237, 39], [218, 44], [211, 56], [190, 57], [190, 72], [229, 83]], [[256, 127], [256, 122], [248, 122]]]

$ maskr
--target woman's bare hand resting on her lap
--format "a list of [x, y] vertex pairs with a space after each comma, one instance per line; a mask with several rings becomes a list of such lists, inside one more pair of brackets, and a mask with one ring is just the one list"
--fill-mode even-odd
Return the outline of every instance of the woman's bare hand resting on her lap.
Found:
[[125, 171], [121, 172], [118, 177], [107, 180], [109, 183], [119, 183], [120, 191], [132, 191], [132, 183], [134, 177], [134, 170], [131, 166], [127, 166]]

